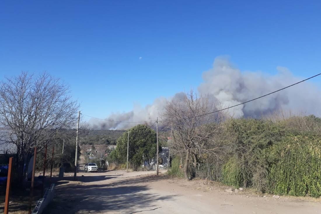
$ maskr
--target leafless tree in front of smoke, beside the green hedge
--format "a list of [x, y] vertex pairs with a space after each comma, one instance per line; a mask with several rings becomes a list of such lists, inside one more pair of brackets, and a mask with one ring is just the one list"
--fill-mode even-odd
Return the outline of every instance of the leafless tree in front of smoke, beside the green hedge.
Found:
[[218, 157], [222, 150], [216, 136], [221, 131], [225, 112], [211, 113], [220, 106], [214, 98], [198, 97], [193, 90], [184, 96], [169, 101], [163, 112], [163, 119], [170, 128], [173, 125], [172, 151], [184, 157], [184, 176], [188, 177], [189, 161], [196, 168], [209, 155]]

